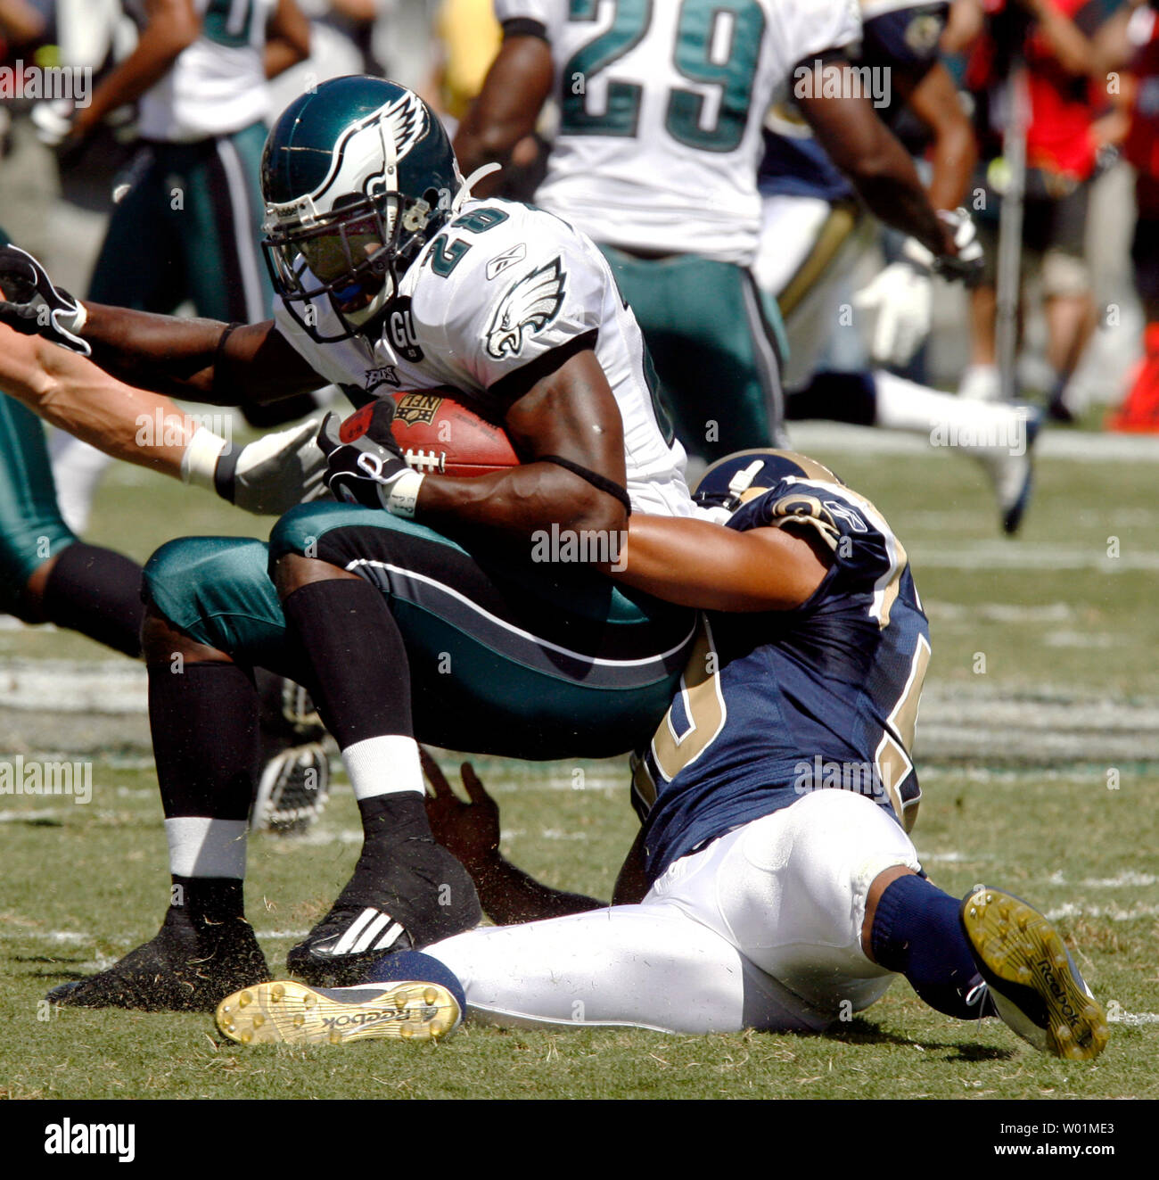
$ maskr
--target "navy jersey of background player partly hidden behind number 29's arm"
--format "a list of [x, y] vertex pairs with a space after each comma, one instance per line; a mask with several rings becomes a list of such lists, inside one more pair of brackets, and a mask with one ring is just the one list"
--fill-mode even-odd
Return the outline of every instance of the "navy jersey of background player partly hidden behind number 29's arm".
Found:
[[[904, 103], [902, 94], [916, 86], [937, 61], [937, 46], [949, 5], [913, 4], [907, 0], [862, 0], [861, 52], [854, 63], [872, 71], [865, 76], [865, 93], [877, 103], [878, 114], [895, 126]], [[875, 90], [870, 84], [881, 84]], [[773, 106], [765, 125], [764, 157], [757, 171], [762, 194], [843, 201], [852, 185], [812, 138], [796, 110]]]

